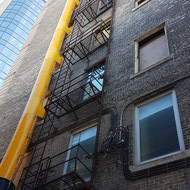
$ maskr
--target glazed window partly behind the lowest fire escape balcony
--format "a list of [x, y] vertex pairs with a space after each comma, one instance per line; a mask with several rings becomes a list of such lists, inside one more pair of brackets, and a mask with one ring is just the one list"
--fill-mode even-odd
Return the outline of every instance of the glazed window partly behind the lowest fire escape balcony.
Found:
[[[88, 152], [89, 155], [92, 155], [95, 148], [96, 131], [97, 126], [94, 126], [92, 128], [88, 128], [86, 130], [73, 134], [71, 137], [70, 147], [74, 147], [80, 144], [85, 149], [85, 151]], [[80, 147], [71, 149], [69, 155], [67, 155], [67, 160], [71, 160], [66, 163], [64, 173], [71, 173], [76, 167], [75, 164], [77, 164], [77, 174], [85, 181], [90, 180], [91, 173], [88, 171], [88, 169], [92, 170], [93, 159], [89, 159], [85, 151]], [[77, 160], [75, 159], [76, 157]]]

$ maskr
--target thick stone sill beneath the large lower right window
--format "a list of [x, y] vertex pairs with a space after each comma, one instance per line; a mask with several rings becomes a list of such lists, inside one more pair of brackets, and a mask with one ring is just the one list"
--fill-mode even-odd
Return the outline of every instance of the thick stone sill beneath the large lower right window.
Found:
[[154, 166], [159, 166], [159, 165], [162, 165], [162, 164], [167, 164], [167, 163], [170, 163], [170, 162], [173, 162], [173, 161], [177, 161], [177, 160], [180, 160], [180, 159], [183, 159], [183, 158], [187, 158], [189, 156], [190, 156], [190, 149], [184, 150], [184, 151], [181, 151], [181, 152], [178, 152], [178, 153], [176, 152], [173, 155], [169, 155], [167, 157], [160, 158], [160, 159], [157, 159], [157, 160], [149, 161], [149, 162], [146, 162], [146, 163], [140, 163], [139, 165], [131, 165], [130, 170], [133, 171], [133, 172], [137, 172], [137, 171], [141, 171], [143, 169], [148, 169], [148, 168], [151, 168], [151, 167], [154, 167]]

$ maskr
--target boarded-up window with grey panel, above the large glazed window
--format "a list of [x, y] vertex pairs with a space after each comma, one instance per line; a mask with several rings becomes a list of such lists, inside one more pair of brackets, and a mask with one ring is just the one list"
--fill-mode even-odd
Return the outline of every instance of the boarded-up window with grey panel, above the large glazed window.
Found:
[[135, 42], [135, 46], [135, 72], [143, 71], [169, 56], [163, 27], [154, 33], [150, 32], [148, 36], [145, 34], [145, 37]]

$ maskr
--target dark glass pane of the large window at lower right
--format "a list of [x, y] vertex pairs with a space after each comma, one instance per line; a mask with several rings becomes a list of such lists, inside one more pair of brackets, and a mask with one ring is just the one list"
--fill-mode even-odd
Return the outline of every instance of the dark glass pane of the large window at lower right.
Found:
[[171, 95], [142, 106], [139, 116], [141, 161], [180, 149]]

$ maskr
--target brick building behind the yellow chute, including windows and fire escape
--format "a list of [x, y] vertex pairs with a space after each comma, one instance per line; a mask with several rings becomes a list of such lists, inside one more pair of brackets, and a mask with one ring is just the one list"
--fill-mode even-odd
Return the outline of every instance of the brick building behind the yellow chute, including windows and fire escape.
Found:
[[[0, 156], [65, 2], [47, 2], [0, 95]], [[18, 189], [190, 189], [189, 8], [187, 0], [81, 1]]]

